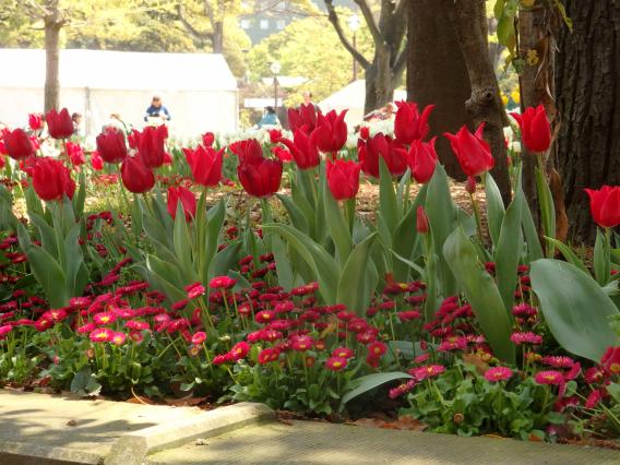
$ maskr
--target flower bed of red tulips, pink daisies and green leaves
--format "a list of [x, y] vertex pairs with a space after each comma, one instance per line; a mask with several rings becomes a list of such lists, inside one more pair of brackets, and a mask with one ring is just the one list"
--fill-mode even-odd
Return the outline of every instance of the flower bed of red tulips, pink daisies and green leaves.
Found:
[[[473, 214], [454, 203], [425, 141], [431, 111], [400, 103], [393, 134], [361, 128], [355, 147], [344, 114], [312, 106], [291, 110], [291, 135], [226, 146], [206, 133], [167, 147], [162, 126], [108, 129], [87, 154], [63, 110], [45, 118], [55, 158], [41, 118], [3, 130], [0, 381], [384, 410], [464, 436], [617, 436], [620, 188], [588, 190], [601, 227], [588, 267], [553, 238], [541, 108], [515, 119], [539, 154], [545, 243], [520, 154], [504, 207], [484, 127], [446, 134]], [[360, 176], [379, 191], [371, 218]], [[226, 194], [238, 183], [243, 207]]]

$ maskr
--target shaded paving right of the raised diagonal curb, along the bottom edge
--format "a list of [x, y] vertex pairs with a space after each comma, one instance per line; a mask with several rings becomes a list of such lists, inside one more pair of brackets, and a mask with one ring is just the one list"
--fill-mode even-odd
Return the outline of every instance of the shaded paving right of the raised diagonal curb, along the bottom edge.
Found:
[[155, 453], [148, 465], [620, 464], [611, 450], [310, 421], [242, 428], [204, 442]]

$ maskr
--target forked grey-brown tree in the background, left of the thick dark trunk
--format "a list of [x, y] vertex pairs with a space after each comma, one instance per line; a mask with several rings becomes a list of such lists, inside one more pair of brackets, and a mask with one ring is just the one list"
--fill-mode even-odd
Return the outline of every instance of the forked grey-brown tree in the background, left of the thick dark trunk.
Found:
[[324, 0], [327, 17], [336, 31], [345, 49], [357, 60], [365, 71], [366, 100], [365, 111], [371, 111], [391, 102], [394, 88], [400, 83], [407, 63], [406, 15], [410, 0], [379, 0], [378, 12], [373, 12], [373, 2], [354, 0], [359, 7], [373, 41], [372, 59], [353, 46], [345, 33], [341, 14], [333, 0]]

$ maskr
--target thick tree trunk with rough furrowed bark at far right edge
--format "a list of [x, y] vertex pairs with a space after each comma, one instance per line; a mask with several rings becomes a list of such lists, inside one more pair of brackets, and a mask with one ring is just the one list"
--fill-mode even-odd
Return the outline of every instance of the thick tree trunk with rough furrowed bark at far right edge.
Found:
[[558, 40], [556, 147], [570, 237], [591, 241], [595, 227], [584, 189], [620, 184], [620, 1], [565, 5], [573, 32], [562, 27]]

